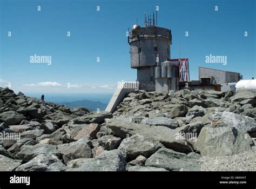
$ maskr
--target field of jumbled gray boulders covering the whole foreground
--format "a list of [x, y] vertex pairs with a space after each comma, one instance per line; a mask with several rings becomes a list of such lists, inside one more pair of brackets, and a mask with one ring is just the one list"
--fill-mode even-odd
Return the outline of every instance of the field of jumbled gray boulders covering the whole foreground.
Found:
[[0, 171], [255, 171], [252, 92], [139, 91], [112, 114], [0, 98]]

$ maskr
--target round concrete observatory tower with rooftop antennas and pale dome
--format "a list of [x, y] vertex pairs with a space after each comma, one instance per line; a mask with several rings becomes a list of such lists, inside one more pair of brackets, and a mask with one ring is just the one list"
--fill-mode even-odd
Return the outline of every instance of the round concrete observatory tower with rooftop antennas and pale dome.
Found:
[[155, 25], [153, 16], [145, 16], [145, 26], [132, 26], [128, 43], [131, 45], [131, 68], [137, 69], [139, 89], [156, 90], [155, 68], [170, 59], [171, 30]]

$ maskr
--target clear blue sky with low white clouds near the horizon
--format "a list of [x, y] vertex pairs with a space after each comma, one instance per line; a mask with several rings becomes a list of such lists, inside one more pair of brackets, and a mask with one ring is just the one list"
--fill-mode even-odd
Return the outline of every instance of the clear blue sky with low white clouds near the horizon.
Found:
[[[171, 58], [180, 44], [191, 79], [198, 79], [198, 66], [255, 77], [254, 0], [0, 1], [0, 86], [10, 83], [15, 92], [111, 93], [117, 82], [135, 80], [126, 31], [136, 11], [143, 26], [144, 12], [156, 6], [158, 26], [172, 30]], [[31, 64], [35, 54], [51, 56], [51, 65]], [[210, 54], [227, 56], [227, 65], [205, 63]]]

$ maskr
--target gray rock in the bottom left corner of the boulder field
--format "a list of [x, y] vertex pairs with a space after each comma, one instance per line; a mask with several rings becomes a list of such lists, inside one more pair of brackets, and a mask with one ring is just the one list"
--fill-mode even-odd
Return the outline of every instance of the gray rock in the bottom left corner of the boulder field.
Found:
[[14, 160], [0, 155], [0, 171], [15, 171], [21, 165], [20, 160]]

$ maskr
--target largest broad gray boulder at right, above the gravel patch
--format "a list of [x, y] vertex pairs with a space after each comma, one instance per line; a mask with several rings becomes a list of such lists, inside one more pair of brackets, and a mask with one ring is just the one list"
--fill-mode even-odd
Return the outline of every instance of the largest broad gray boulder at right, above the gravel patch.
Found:
[[252, 138], [235, 127], [203, 127], [194, 149], [201, 156], [217, 157], [237, 154], [251, 149]]

